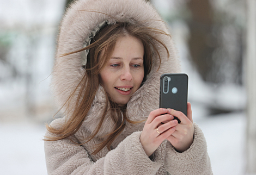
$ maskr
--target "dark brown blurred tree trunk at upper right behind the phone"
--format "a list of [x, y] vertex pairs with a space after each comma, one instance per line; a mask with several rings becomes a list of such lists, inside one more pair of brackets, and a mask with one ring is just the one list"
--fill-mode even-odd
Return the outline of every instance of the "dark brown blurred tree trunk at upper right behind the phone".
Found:
[[188, 21], [190, 39], [188, 45], [191, 58], [202, 78], [206, 81], [212, 69], [212, 53], [216, 46], [216, 37], [212, 36], [214, 27], [214, 10], [210, 1], [191, 0], [187, 3], [191, 11], [191, 20]]

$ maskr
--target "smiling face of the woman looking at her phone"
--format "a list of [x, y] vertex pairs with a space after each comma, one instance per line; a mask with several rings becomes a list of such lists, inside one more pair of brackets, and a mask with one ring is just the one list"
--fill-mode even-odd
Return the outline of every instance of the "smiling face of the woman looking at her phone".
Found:
[[143, 55], [143, 44], [136, 37], [124, 36], [117, 40], [111, 59], [100, 72], [100, 83], [115, 103], [127, 104], [141, 86]]

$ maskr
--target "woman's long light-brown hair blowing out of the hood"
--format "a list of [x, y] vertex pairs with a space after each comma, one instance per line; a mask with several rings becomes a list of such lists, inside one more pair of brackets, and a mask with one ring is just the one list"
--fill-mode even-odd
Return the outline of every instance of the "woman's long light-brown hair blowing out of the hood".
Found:
[[[153, 34], [163, 34], [170, 36], [169, 34], [163, 32], [162, 30], [156, 28], [149, 28], [144, 27], [143, 25], [134, 25], [129, 23], [121, 23], [118, 22], [113, 25], [108, 25], [105, 28], [101, 29], [100, 32], [94, 37], [92, 43], [84, 47], [78, 51], [65, 53], [62, 57], [66, 55], [78, 53], [85, 51], [86, 49], [90, 49], [87, 55], [87, 64], [86, 64], [86, 72], [84, 73], [83, 78], [81, 79], [80, 83], [77, 85], [74, 92], [71, 94], [69, 99], [66, 103], [69, 103], [70, 99], [74, 97], [75, 92], [77, 91], [78, 87], [80, 91], [77, 97], [75, 110], [72, 112], [71, 116], [69, 117], [68, 121], [66, 121], [60, 128], [56, 129], [47, 124], [46, 128], [49, 132], [55, 134], [54, 137], [46, 137], [46, 141], [56, 141], [60, 139], [65, 139], [69, 136], [74, 135], [78, 129], [82, 126], [83, 121], [85, 120], [88, 111], [90, 110], [94, 97], [96, 95], [97, 89], [99, 88], [99, 73], [102, 68], [107, 64], [109, 59], [113, 54], [113, 50], [115, 47], [115, 43], [117, 39], [121, 36], [134, 36], [137, 39], [141, 40], [144, 47], [144, 79], [143, 82], [146, 80], [147, 74], [151, 71], [151, 67], [153, 64], [153, 55], [157, 54], [160, 63], [160, 53], [157, 51], [156, 43], [160, 46], [164, 47], [167, 51], [167, 56], [169, 58], [169, 51], [166, 45], [159, 39], [157, 39]], [[101, 51], [105, 49], [108, 52], [104, 52], [103, 59], [99, 59], [99, 55]], [[160, 67], [160, 65], [159, 65]], [[143, 83], [142, 83], [143, 84]], [[105, 92], [106, 93], [106, 92]], [[121, 134], [126, 126], [126, 122], [130, 123], [138, 123], [135, 121], [129, 120], [129, 117], [126, 116], [126, 105], [120, 106], [117, 103], [114, 103], [111, 100], [111, 97], [108, 96], [106, 93], [107, 101], [105, 110], [101, 116], [101, 120], [97, 125], [96, 129], [87, 138], [87, 141], [92, 140], [97, 133], [99, 132], [103, 120], [107, 114], [107, 112], [111, 112], [111, 118], [115, 123], [113, 127], [112, 133], [107, 133], [103, 142], [97, 145], [93, 154], [98, 153], [103, 149], [105, 146], [110, 150], [111, 144], [115, 140], [115, 138]], [[109, 111], [110, 110], [110, 111]], [[81, 143], [83, 144], [83, 143]]]

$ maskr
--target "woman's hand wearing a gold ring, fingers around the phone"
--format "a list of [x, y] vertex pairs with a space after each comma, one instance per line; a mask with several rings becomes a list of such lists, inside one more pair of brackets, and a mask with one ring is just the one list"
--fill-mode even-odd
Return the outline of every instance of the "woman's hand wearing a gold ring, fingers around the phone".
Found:
[[[140, 137], [142, 147], [148, 156], [153, 154], [165, 139], [173, 140], [171, 136], [178, 124], [178, 121], [173, 118], [173, 115], [164, 108], [150, 112]], [[164, 124], [161, 124], [163, 122]]]

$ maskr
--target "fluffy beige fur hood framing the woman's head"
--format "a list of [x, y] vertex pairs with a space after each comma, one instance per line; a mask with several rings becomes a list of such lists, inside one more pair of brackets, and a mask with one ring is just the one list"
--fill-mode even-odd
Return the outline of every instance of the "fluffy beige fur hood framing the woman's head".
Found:
[[[106, 15], [107, 14], [107, 15]], [[82, 67], [84, 51], [70, 54], [65, 57], [59, 57], [61, 54], [77, 51], [83, 48], [86, 38], [103, 21], [110, 24], [116, 22], [129, 22], [132, 24], [142, 24], [147, 27], [153, 27], [168, 32], [167, 24], [162, 21], [160, 15], [156, 12], [150, 3], [143, 0], [79, 0], [70, 5], [65, 12], [63, 21], [60, 25], [56, 62], [54, 64], [52, 90], [59, 108], [63, 107], [74, 88], [78, 85], [85, 72]], [[159, 59], [155, 54], [153, 58], [153, 67], [147, 76], [144, 85], [139, 88], [127, 103], [127, 116], [130, 120], [141, 121], [149, 113], [159, 108], [159, 90], [160, 76], [163, 73], [180, 72], [179, 60], [176, 49], [170, 37], [163, 34], [155, 34], [157, 39], [164, 42], [167, 46], [170, 57], [167, 58], [167, 52], [163, 47], [159, 47], [161, 55], [161, 66], [159, 68]], [[157, 69], [159, 70], [157, 71]], [[78, 94], [75, 94], [77, 97]], [[81, 132], [92, 133], [96, 128], [102, 110], [105, 108], [106, 97], [103, 88], [100, 86], [92, 104], [86, 120], [80, 128]], [[72, 112], [76, 104], [76, 98], [72, 98], [69, 103], [68, 111]], [[67, 105], [64, 105], [62, 111], [65, 112]], [[68, 114], [67, 114], [68, 115]], [[69, 117], [69, 116], [66, 116]], [[97, 136], [105, 135], [112, 131], [113, 122], [109, 115], [103, 122], [102, 129]], [[127, 123], [123, 133], [113, 143], [116, 147], [118, 143], [127, 135], [142, 130], [144, 124]]]

